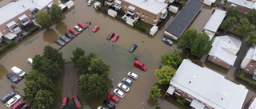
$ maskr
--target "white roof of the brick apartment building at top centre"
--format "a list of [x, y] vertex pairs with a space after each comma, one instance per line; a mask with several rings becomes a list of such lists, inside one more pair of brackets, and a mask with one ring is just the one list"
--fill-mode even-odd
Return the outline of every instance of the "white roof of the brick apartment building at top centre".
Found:
[[163, 9], [166, 8], [167, 4], [164, 3], [164, 0], [124, 0], [130, 4], [147, 10], [153, 14], [160, 13]]

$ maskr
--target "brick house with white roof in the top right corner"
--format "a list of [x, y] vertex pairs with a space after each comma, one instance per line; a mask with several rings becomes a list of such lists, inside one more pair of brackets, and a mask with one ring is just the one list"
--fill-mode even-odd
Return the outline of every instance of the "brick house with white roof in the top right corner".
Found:
[[238, 6], [241, 13], [247, 14], [249, 10], [256, 8], [256, 3], [247, 0], [227, 0], [225, 7], [230, 6]]

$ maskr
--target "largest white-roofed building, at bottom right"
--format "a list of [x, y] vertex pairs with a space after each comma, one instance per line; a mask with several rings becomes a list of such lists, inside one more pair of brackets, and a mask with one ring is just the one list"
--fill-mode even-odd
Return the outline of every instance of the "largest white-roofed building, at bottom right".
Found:
[[166, 95], [184, 97], [195, 109], [242, 109], [247, 92], [245, 86], [185, 59], [170, 80]]

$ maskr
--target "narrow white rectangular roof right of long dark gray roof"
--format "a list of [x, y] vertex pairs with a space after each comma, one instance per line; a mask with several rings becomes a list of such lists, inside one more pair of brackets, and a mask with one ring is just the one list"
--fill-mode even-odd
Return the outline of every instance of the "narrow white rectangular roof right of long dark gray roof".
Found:
[[206, 23], [204, 29], [210, 30], [211, 32], [217, 32], [219, 25], [222, 24], [223, 19], [226, 16], [226, 11], [215, 10], [214, 14], [210, 17], [209, 21]]

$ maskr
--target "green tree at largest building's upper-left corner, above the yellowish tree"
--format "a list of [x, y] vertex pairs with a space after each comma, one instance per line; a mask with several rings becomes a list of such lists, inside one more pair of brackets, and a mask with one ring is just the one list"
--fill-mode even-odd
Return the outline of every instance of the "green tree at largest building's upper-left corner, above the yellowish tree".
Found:
[[174, 52], [171, 53], [164, 53], [161, 56], [161, 63], [163, 65], [170, 65], [173, 68], [178, 68], [179, 64], [182, 63], [182, 58], [179, 56], [178, 50], [174, 50]]

